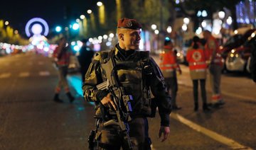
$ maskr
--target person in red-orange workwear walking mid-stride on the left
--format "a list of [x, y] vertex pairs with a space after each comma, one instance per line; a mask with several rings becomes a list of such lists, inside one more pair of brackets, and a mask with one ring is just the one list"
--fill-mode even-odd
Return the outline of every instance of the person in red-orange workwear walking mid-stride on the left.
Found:
[[75, 98], [70, 93], [70, 88], [68, 87], [68, 81], [66, 79], [68, 75], [68, 64], [70, 63], [71, 56], [70, 48], [67, 45], [67, 40], [65, 37], [60, 38], [58, 47], [53, 52], [53, 57], [58, 67], [58, 77], [59, 81], [55, 87], [55, 96], [53, 100], [57, 103], [63, 103], [63, 100], [60, 100], [59, 93], [61, 88], [64, 88], [66, 95], [68, 96], [70, 103], [72, 103]]

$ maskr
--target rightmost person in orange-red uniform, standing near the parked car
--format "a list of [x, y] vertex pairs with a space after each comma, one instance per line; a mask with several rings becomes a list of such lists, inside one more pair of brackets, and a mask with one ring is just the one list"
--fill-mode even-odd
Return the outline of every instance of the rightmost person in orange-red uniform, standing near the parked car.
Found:
[[224, 104], [220, 91], [221, 71], [223, 69], [224, 60], [220, 55], [218, 41], [211, 35], [210, 31], [204, 30], [203, 37], [206, 39], [205, 50], [210, 72], [210, 85], [213, 92], [211, 104], [214, 107], [218, 107]]

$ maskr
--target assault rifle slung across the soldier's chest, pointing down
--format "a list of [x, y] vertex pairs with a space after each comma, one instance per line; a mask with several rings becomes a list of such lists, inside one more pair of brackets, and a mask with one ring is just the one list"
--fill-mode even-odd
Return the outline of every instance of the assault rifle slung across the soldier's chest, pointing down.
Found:
[[131, 95], [124, 95], [124, 88], [119, 86], [117, 81], [117, 72], [115, 71], [114, 60], [110, 57], [109, 61], [102, 63], [102, 69], [105, 71], [107, 81], [97, 85], [99, 90], [107, 90], [111, 93], [114, 104], [117, 106], [115, 113], [117, 115], [117, 120], [112, 119], [104, 122], [103, 125], [106, 127], [108, 125], [119, 125], [124, 134], [124, 139], [127, 141], [127, 146], [132, 149], [132, 143], [129, 139], [129, 125], [128, 122], [132, 120], [129, 113], [132, 112], [132, 106], [130, 100]]

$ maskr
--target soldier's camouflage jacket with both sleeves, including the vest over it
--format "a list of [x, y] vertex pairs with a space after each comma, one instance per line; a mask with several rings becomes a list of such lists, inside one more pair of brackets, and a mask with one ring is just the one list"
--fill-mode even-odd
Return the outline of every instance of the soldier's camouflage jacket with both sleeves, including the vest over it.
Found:
[[[127, 56], [123, 54], [117, 45], [112, 52], [116, 63], [119, 83], [124, 87], [126, 94], [132, 95], [132, 117], [148, 117], [151, 114], [151, 97], [153, 94], [156, 105], [159, 108], [161, 125], [169, 126], [169, 114], [171, 113], [171, 97], [161, 71], [149, 57], [148, 52], [130, 51]], [[85, 75], [85, 83], [82, 91], [85, 100], [95, 102], [96, 108], [100, 100], [107, 95], [107, 91], [97, 90], [96, 86], [106, 81], [101, 63], [109, 57], [111, 52], [97, 52]], [[146, 90], [145, 90], [146, 89]]]

